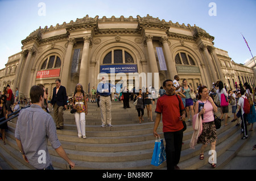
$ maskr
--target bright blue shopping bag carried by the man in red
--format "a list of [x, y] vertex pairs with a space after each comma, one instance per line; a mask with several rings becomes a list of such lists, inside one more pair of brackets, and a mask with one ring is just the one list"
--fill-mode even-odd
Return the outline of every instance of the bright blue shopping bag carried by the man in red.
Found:
[[160, 137], [156, 137], [151, 164], [154, 166], [159, 166], [164, 161], [166, 161], [166, 150], [164, 150], [163, 139], [160, 139]]

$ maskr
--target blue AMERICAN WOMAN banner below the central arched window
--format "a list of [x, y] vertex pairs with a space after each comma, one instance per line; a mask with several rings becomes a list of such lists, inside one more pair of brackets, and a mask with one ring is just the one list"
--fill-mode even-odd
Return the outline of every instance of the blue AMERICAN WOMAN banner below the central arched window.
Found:
[[125, 64], [125, 65], [101, 65], [100, 73], [110, 74], [112, 73], [137, 73], [137, 65]]

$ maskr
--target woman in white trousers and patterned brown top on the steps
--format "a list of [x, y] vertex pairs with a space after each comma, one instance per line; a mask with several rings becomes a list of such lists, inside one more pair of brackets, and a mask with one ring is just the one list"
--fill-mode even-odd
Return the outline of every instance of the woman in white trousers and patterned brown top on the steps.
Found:
[[86, 138], [85, 135], [85, 115], [87, 115], [87, 102], [82, 90], [81, 83], [76, 85], [75, 94], [72, 102], [75, 112], [75, 120], [79, 138]]

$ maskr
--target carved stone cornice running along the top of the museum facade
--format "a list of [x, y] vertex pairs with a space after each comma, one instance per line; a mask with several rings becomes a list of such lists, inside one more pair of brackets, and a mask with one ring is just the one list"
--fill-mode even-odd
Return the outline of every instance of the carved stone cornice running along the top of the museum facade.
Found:
[[[137, 28], [108, 28], [108, 29], [99, 29], [98, 23], [113, 23], [113, 22], [132, 22], [138, 23]], [[180, 33], [170, 32], [170, 28], [182, 28], [184, 30], [189, 30], [192, 32], [193, 36], [183, 35]], [[42, 34], [46, 32], [56, 31], [60, 29], [65, 29], [67, 31], [66, 34], [63, 35], [56, 35], [52, 37], [48, 37], [47, 39], [42, 39]], [[159, 18], [153, 18], [150, 15], [144, 16], [143, 18], [137, 15], [136, 18], [133, 16], [129, 16], [129, 18], [125, 18], [124, 16], [120, 16], [119, 18], [115, 18], [112, 16], [111, 18], [106, 18], [103, 16], [101, 19], [98, 16], [95, 18], [90, 18], [86, 15], [84, 18], [77, 18], [74, 22], [71, 20], [69, 23], [64, 22], [63, 24], [57, 23], [56, 26], [50, 26], [49, 28], [46, 26], [44, 28], [39, 27], [38, 30], [32, 32], [26, 39], [22, 40], [22, 44], [30, 43], [31, 41], [38, 41], [39, 44], [42, 43], [49, 43], [51, 41], [67, 39], [69, 34], [74, 31], [79, 30], [92, 30], [92, 36], [94, 35], [106, 35], [106, 34], [117, 34], [117, 33], [126, 33], [126, 34], [143, 34], [143, 30], [156, 30], [156, 31], [163, 31], [166, 32], [168, 37], [176, 38], [176, 39], [183, 39], [183, 40], [190, 40], [195, 41], [199, 38], [201, 39], [208, 39], [210, 41], [214, 40], [213, 36], [210, 36], [202, 28], [193, 26], [191, 27], [190, 24], [185, 26], [185, 24], [179, 24], [178, 22], [172, 23], [171, 21], [166, 22], [164, 19], [160, 20]]]

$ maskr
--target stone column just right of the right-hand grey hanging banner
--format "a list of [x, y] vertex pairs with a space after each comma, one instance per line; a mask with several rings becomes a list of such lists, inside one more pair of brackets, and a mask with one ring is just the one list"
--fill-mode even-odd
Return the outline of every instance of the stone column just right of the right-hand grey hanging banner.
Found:
[[172, 60], [171, 51], [168, 45], [168, 37], [162, 37], [161, 41], [163, 43], [164, 53], [166, 54], [166, 64], [170, 78], [174, 79], [174, 76], [177, 75], [177, 70], [174, 64], [174, 60]]

